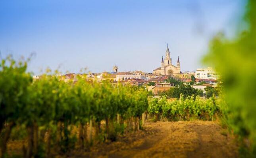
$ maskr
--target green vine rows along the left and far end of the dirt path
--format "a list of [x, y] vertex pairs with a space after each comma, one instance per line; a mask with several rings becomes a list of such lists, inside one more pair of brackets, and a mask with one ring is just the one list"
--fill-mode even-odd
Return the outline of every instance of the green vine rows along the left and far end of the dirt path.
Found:
[[2, 157], [8, 155], [10, 138], [26, 140], [24, 157], [51, 157], [142, 129], [144, 113], [154, 121], [213, 120], [219, 113], [215, 98], [181, 95], [167, 102], [166, 97], [150, 98], [144, 88], [82, 78], [70, 85], [54, 75], [32, 82], [26, 62], [11, 58], [0, 68]]

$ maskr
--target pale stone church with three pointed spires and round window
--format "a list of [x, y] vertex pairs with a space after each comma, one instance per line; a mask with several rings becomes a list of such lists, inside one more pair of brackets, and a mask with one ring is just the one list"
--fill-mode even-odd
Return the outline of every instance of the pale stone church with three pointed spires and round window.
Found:
[[177, 61], [177, 66], [174, 66], [171, 63], [171, 53], [169, 51], [168, 43], [167, 43], [167, 49], [166, 49], [166, 56], [163, 58], [162, 56], [162, 62], [161, 67], [156, 68], [153, 70], [154, 75], [177, 75], [181, 73], [181, 65], [179, 62], [179, 56]]

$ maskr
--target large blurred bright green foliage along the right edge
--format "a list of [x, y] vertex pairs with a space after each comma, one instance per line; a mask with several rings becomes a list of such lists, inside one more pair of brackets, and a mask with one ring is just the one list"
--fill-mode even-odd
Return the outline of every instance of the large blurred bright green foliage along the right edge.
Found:
[[249, 0], [244, 21], [247, 28], [233, 39], [218, 34], [210, 43], [204, 62], [221, 74], [226, 101], [225, 122], [240, 136], [241, 156], [256, 157], [256, 1]]

